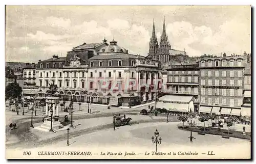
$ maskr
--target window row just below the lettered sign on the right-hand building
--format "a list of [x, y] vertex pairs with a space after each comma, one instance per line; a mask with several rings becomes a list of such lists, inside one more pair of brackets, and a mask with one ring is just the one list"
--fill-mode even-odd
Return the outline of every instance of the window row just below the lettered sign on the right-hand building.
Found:
[[[242, 89], [236, 90], [236, 94], [234, 94], [234, 89], [219, 89], [219, 88], [215, 88], [215, 89], [207, 88], [207, 89], [205, 89], [205, 88], [201, 88], [201, 95], [206, 95], [206, 91], [207, 91], [207, 95], [243, 96], [243, 90]], [[219, 91], [221, 91], [221, 93]], [[229, 92], [229, 94], [227, 94], [227, 91]]]

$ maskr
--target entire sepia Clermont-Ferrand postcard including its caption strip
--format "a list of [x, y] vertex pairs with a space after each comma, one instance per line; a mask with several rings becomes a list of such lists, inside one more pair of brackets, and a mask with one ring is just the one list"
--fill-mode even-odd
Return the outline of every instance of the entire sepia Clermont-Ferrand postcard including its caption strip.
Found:
[[7, 159], [250, 159], [251, 6], [6, 6]]

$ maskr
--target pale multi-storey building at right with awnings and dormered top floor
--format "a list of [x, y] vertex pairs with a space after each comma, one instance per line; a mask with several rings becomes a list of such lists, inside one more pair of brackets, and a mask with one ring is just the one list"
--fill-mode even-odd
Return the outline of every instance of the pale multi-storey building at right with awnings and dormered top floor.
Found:
[[200, 60], [200, 113], [240, 116], [244, 86], [243, 56]]

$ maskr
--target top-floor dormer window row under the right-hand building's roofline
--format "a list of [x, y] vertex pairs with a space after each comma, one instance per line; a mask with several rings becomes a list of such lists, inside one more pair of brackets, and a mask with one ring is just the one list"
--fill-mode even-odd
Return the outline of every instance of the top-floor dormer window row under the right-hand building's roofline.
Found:
[[233, 66], [242, 66], [242, 60], [238, 60], [237, 61], [237, 65], [235, 65], [235, 61], [234, 60], [230, 60], [230, 61], [226, 61], [226, 60], [223, 60], [223, 61], [208, 61], [208, 62], [205, 62], [205, 61], [201, 61], [200, 63], [200, 66], [201, 67], [233, 67]]

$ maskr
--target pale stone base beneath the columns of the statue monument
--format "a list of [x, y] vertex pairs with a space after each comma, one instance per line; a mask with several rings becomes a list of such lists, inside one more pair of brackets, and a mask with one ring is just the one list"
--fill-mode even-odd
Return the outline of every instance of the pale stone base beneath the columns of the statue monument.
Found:
[[[44, 123], [41, 124], [40, 128], [50, 130], [51, 129], [51, 116], [46, 116], [44, 118]], [[59, 128], [62, 128], [63, 125], [59, 122], [59, 116], [52, 117], [52, 129], [57, 130]]]

